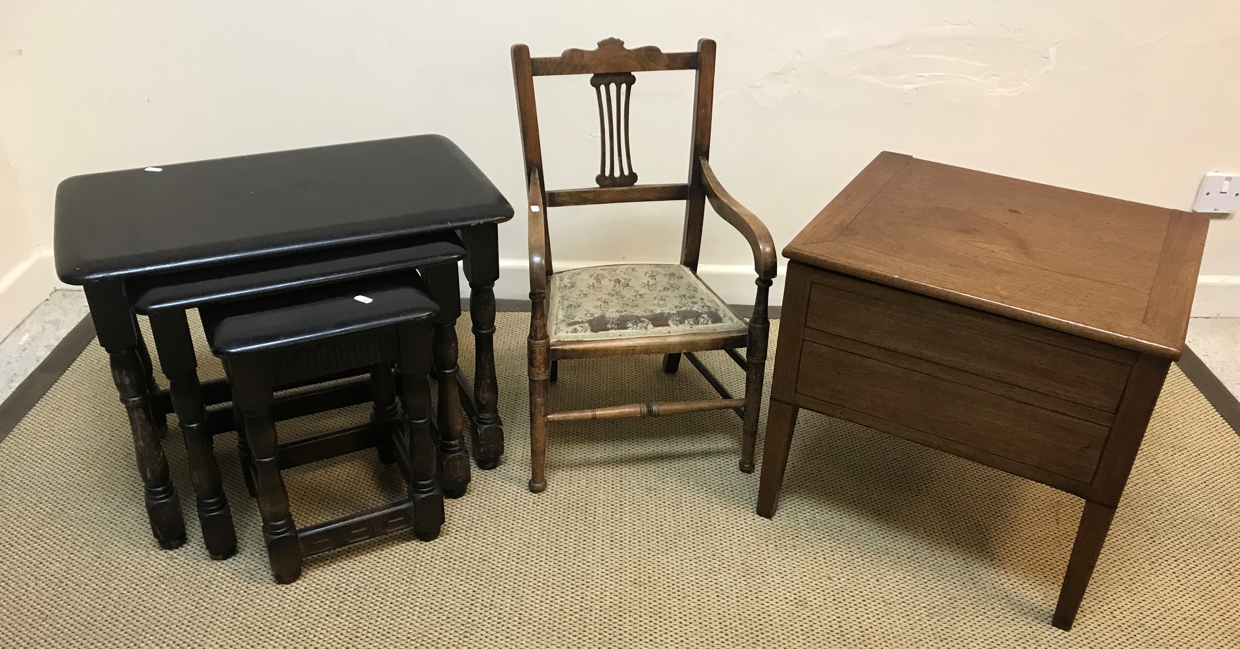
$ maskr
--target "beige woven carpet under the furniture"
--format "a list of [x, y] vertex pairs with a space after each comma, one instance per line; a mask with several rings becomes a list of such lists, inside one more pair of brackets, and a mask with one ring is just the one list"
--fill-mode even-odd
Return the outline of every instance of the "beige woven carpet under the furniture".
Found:
[[[157, 549], [92, 346], [0, 443], [0, 647], [1240, 647], [1240, 437], [1178, 369], [1064, 633], [1050, 613], [1080, 500], [815, 414], [774, 520], [754, 514], [758, 474], [735, 469], [730, 412], [554, 425], [549, 489], [529, 494], [527, 322], [498, 318], [507, 455], [448, 503], [443, 535], [314, 560], [291, 586], [268, 575], [232, 435], [217, 453], [241, 552], [207, 559], [175, 430], [190, 541]], [[739, 391], [730, 360], [706, 355]], [[565, 362], [559, 375], [556, 409], [712, 394], [656, 357]], [[303, 524], [402, 484], [373, 452], [286, 479]]]

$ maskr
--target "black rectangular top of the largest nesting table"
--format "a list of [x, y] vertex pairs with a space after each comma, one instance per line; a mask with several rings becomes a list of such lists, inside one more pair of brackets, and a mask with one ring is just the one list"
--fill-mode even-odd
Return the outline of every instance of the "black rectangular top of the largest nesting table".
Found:
[[510, 218], [441, 135], [222, 157], [61, 182], [56, 272], [84, 284]]

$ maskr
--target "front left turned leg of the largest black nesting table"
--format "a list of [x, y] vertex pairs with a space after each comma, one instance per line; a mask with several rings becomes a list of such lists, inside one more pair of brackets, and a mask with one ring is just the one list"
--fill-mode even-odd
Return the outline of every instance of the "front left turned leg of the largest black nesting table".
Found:
[[160, 446], [151, 410], [146, 365], [138, 353], [138, 331], [120, 280], [86, 285], [87, 303], [99, 344], [108, 351], [112, 380], [129, 415], [138, 473], [143, 478], [146, 516], [160, 547], [172, 550], [185, 544], [181, 500], [169, 477], [167, 460]]

